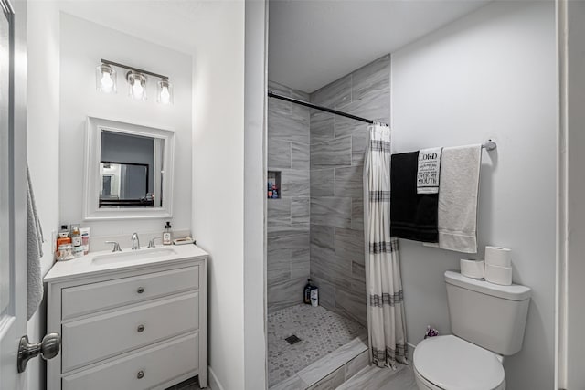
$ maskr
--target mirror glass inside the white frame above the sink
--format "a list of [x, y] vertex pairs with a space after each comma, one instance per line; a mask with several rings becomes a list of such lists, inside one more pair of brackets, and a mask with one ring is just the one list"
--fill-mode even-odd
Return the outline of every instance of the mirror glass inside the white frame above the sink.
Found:
[[165, 140], [101, 132], [100, 208], [162, 207]]

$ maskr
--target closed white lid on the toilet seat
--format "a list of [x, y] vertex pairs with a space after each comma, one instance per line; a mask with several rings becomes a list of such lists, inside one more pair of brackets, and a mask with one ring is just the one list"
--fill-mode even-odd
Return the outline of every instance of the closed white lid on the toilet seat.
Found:
[[420, 342], [414, 350], [414, 366], [443, 389], [492, 390], [504, 381], [504, 367], [494, 353], [452, 335]]

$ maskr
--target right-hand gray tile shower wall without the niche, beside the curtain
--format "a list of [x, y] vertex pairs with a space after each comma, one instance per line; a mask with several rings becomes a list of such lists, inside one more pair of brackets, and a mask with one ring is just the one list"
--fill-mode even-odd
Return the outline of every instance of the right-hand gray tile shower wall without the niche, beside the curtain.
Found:
[[[390, 56], [315, 91], [310, 99], [389, 123]], [[324, 307], [366, 325], [362, 172], [367, 123], [314, 110], [310, 122], [311, 277]]]

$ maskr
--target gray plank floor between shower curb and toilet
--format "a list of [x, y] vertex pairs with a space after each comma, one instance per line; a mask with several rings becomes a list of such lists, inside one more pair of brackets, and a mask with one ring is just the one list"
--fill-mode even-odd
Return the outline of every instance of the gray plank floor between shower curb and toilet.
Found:
[[412, 367], [399, 364], [397, 370], [368, 366], [337, 390], [419, 390]]

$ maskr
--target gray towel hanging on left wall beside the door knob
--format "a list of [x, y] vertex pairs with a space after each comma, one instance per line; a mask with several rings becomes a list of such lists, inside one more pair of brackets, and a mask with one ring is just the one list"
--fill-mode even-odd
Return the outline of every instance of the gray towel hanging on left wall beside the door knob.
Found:
[[43, 278], [40, 258], [43, 257], [43, 229], [37, 215], [35, 195], [27, 166], [27, 314], [28, 319], [37, 311], [43, 300]]

